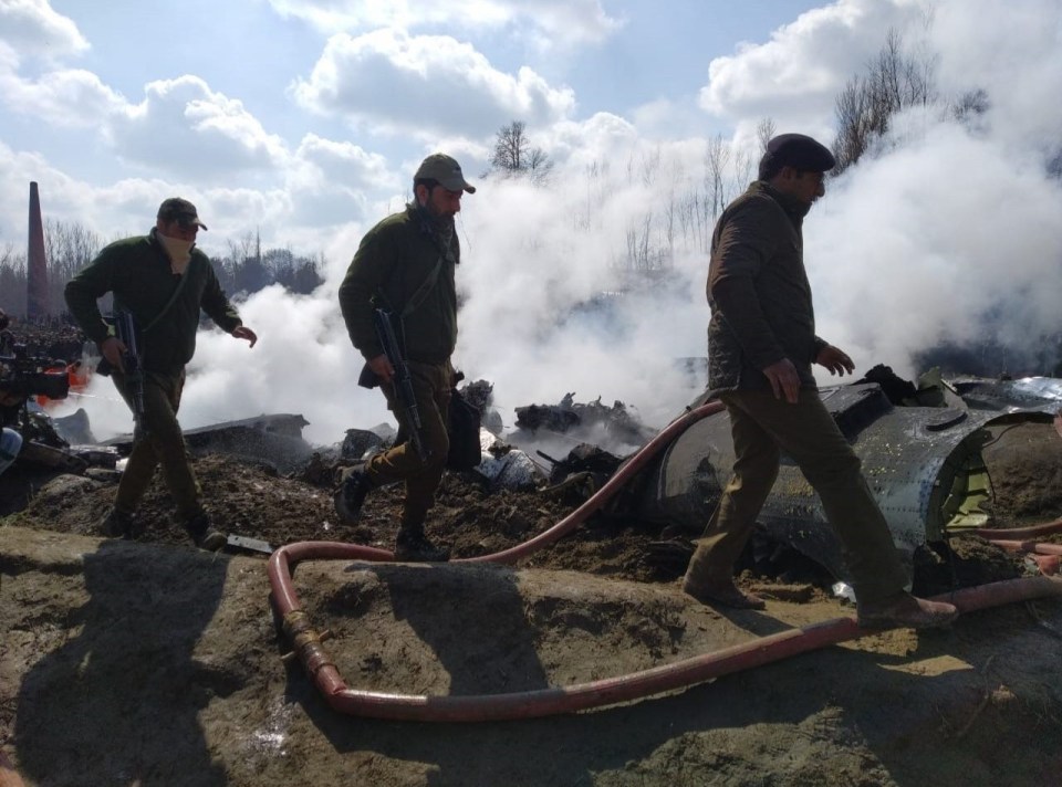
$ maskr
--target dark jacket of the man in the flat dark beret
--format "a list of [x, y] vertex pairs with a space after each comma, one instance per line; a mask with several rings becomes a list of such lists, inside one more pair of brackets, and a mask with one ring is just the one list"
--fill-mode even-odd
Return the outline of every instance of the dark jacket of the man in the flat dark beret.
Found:
[[815, 336], [801, 231], [809, 206], [756, 181], [719, 217], [708, 267], [708, 388], [770, 390], [761, 369], [789, 358], [801, 385], [826, 343]]

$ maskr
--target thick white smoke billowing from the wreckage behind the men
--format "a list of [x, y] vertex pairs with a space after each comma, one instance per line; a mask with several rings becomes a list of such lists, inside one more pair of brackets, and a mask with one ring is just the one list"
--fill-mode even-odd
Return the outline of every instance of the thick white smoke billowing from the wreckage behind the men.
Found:
[[[887, 364], [912, 377], [916, 354], [943, 339], [1021, 344], [1059, 332], [1062, 187], [1047, 165], [1059, 153], [1060, 17], [1055, 2], [940, 3], [925, 40], [912, 42], [935, 63], [943, 99], [979, 88], [988, 111], [960, 123], [943, 101], [895, 118], [806, 218], [819, 334], [853, 356], [856, 375]], [[832, 99], [819, 112], [829, 126]], [[778, 132], [803, 130], [775, 119]], [[736, 138], [749, 139], [741, 128]], [[662, 427], [698, 392], [676, 359], [705, 354], [714, 220], [683, 211], [702, 188], [707, 140], [617, 135], [607, 145], [594, 153], [600, 166], [576, 150], [544, 186], [473, 178], [481, 188], [465, 198], [455, 365], [493, 384], [507, 426], [514, 407], [574, 392], [623, 401]], [[754, 148], [741, 151], [754, 164]], [[731, 197], [747, 185], [731, 181]], [[367, 229], [347, 227], [329, 244], [327, 282], [312, 296], [269, 288], [240, 304], [261, 337], [253, 349], [200, 336], [186, 427], [300, 412], [306, 437], [330, 443], [389, 418], [378, 392], [355, 385], [362, 359], [335, 300]], [[668, 286], [605, 294], [627, 288], [643, 243]]]

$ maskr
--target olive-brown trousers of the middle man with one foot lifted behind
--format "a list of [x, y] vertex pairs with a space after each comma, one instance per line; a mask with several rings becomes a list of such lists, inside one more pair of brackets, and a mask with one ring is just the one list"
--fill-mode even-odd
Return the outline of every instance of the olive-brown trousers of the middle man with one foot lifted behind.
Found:
[[368, 460], [365, 471], [373, 486], [384, 486], [398, 481], [406, 484], [406, 500], [400, 528], [423, 533], [428, 511], [435, 504], [435, 493], [442, 481], [446, 455], [450, 450], [447, 433], [447, 413], [450, 391], [454, 388], [454, 367], [444, 364], [409, 361], [414, 399], [420, 417], [420, 441], [427, 457], [420, 459], [409, 439], [412, 424], [406, 409], [397, 399], [395, 387], [381, 385], [387, 397], [387, 408], [398, 421], [398, 436], [394, 448]]

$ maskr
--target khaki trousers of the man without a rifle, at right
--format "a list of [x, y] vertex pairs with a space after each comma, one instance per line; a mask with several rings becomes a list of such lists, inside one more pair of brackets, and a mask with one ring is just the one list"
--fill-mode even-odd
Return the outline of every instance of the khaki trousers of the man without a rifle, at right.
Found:
[[863, 478], [860, 458], [818, 391], [801, 390], [795, 405], [770, 391], [728, 391], [719, 399], [730, 415], [733, 476], [698, 542], [687, 578], [706, 584], [732, 576], [784, 451], [822, 501], [856, 598], [873, 604], [902, 590], [907, 576], [888, 524]]

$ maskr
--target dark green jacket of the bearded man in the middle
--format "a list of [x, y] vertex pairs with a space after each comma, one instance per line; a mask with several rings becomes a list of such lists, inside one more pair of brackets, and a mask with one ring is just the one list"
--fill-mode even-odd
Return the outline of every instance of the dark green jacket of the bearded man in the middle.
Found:
[[[400, 314], [442, 259], [438, 280], [420, 305], [403, 319], [406, 360], [445, 363], [457, 346], [457, 292], [454, 272], [460, 262], [457, 234], [442, 248], [427, 216], [406, 206], [362, 239], [340, 285], [340, 309], [351, 342], [366, 360], [383, 349], [373, 327], [374, 298]], [[399, 338], [400, 340], [400, 338]]]

